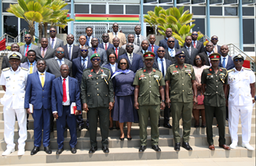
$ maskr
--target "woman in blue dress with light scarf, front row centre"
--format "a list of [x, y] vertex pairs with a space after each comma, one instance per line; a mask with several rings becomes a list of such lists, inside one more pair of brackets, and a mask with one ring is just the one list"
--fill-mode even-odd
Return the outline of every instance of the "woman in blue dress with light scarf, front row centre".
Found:
[[132, 122], [138, 122], [137, 110], [133, 107], [134, 103], [134, 87], [133, 79], [134, 72], [128, 70], [129, 63], [126, 59], [121, 59], [118, 63], [118, 68], [112, 76], [114, 91], [115, 91], [115, 104], [112, 111], [113, 121], [119, 121], [119, 128], [121, 135], [120, 140], [124, 140], [123, 123], [127, 122], [127, 139], [131, 140], [130, 129]]

